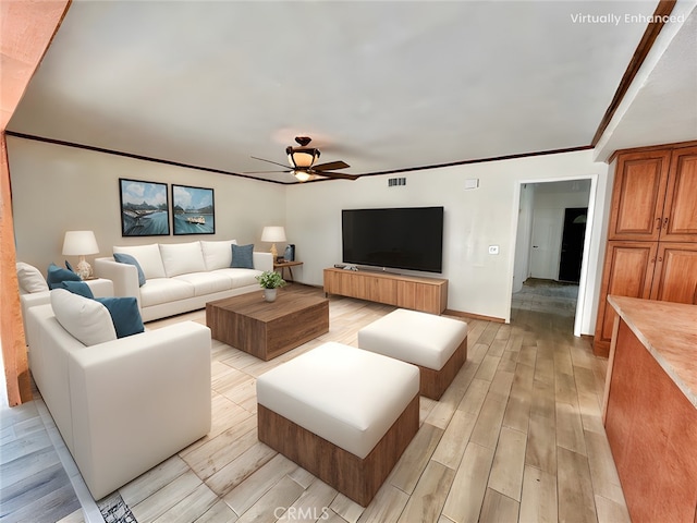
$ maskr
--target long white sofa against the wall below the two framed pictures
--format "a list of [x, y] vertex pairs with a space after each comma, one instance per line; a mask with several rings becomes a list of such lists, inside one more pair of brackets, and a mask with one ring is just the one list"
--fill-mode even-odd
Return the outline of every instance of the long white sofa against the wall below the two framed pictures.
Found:
[[204, 308], [206, 303], [259, 291], [255, 279], [273, 270], [271, 253], [253, 254], [253, 268], [231, 267], [230, 241], [114, 246], [113, 252], [133, 256], [134, 265], [113, 257], [95, 259], [95, 273], [113, 282], [115, 296], [135, 296], [144, 321]]

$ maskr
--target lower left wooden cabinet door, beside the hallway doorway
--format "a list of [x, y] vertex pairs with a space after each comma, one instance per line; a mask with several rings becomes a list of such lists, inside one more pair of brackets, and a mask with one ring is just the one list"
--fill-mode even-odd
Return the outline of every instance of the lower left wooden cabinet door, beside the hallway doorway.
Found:
[[607, 356], [612, 339], [615, 313], [608, 305], [608, 295], [648, 300], [657, 250], [655, 242], [608, 242], [594, 338], [596, 355]]

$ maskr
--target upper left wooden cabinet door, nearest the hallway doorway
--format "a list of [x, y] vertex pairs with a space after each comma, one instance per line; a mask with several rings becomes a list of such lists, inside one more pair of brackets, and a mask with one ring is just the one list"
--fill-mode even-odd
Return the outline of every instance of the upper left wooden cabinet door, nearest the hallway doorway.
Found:
[[670, 150], [631, 153], [617, 157], [609, 240], [658, 240], [670, 157]]

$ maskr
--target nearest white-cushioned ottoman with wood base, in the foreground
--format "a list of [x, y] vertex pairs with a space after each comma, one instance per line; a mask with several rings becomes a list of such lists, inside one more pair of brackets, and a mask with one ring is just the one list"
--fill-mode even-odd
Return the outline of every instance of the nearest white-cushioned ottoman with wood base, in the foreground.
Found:
[[366, 507], [418, 430], [418, 368], [325, 343], [257, 379], [259, 440]]

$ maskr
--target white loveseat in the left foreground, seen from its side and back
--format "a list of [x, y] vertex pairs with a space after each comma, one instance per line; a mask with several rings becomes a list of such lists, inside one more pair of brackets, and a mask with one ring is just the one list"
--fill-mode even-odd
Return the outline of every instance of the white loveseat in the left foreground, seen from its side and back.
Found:
[[27, 311], [29, 368], [95, 499], [210, 431], [210, 329], [117, 339], [97, 301], [62, 289]]

